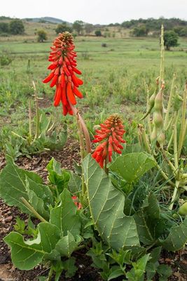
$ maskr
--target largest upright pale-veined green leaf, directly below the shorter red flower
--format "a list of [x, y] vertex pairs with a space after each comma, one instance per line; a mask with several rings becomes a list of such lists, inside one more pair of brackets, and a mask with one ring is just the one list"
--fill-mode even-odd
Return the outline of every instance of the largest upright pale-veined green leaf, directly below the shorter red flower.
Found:
[[113, 187], [109, 176], [90, 155], [83, 159], [83, 173], [92, 220], [102, 239], [117, 251], [138, 246], [134, 218], [123, 214], [123, 193]]

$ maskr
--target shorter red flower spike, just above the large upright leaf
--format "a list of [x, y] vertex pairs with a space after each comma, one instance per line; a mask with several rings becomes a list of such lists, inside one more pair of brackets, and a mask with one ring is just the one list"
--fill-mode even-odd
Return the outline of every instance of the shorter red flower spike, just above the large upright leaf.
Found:
[[125, 133], [122, 119], [119, 115], [111, 115], [106, 119], [104, 124], [101, 124], [101, 129], [96, 130], [97, 135], [92, 141], [93, 143], [100, 143], [93, 152], [92, 157], [103, 168], [104, 162], [111, 162], [112, 152], [115, 151], [121, 154], [123, 146], [120, 143], [125, 143], [123, 134]]

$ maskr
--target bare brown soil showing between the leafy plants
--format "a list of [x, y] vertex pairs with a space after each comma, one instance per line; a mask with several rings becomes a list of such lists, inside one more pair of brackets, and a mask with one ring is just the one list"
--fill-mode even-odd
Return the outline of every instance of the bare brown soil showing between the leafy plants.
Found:
[[[34, 155], [32, 159], [20, 157], [16, 164], [22, 169], [36, 172], [46, 181], [46, 165], [52, 157], [55, 157], [62, 164], [63, 168], [72, 169], [72, 160], [74, 159], [76, 162], [80, 161], [78, 143], [69, 139], [67, 145], [65, 145], [61, 152]], [[5, 157], [3, 154], [0, 154], [0, 171], [5, 164]], [[16, 207], [8, 207], [0, 200], [0, 281], [36, 281], [38, 280], [37, 276], [48, 273], [48, 268], [36, 266], [34, 270], [18, 270], [11, 263], [10, 251], [3, 241], [4, 236], [13, 230], [16, 216], [27, 220], [27, 215], [20, 214], [20, 211]], [[85, 256], [85, 251], [78, 251], [74, 256], [77, 258], [76, 266], [78, 267], [76, 275], [71, 278], [66, 278], [62, 275], [60, 278], [61, 281], [102, 281], [97, 270], [92, 268], [90, 258]], [[169, 278], [170, 281], [187, 280], [187, 249], [178, 251], [175, 254], [168, 253], [167, 251], [162, 252], [160, 263], [167, 263], [169, 266], [172, 266], [173, 275]], [[122, 279], [116, 278], [116, 281], [120, 280]], [[155, 280], [158, 280], [158, 278], [155, 277]]]

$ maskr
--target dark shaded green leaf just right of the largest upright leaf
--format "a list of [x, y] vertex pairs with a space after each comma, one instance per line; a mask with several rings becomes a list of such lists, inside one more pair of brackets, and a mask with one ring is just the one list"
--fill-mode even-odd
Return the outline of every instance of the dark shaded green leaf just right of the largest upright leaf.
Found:
[[158, 200], [153, 192], [151, 192], [143, 206], [134, 214], [134, 220], [137, 223], [137, 231], [139, 240], [144, 244], [151, 244], [158, 238], [158, 224], [162, 224], [160, 218], [160, 207]]

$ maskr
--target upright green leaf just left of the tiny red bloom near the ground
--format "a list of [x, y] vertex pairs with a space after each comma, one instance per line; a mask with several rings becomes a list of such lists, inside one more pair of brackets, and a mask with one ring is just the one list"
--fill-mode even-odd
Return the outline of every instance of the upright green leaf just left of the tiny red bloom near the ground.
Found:
[[76, 212], [77, 207], [71, 198], [71, 193], [65, 188], [60, 195], [60, 204], [50, 211], [50, 223], [60, 229], [61, 237], [66, 236], [68, 231], [74, 237], [79, 235], [81, 221]]

